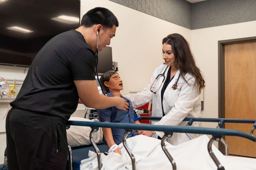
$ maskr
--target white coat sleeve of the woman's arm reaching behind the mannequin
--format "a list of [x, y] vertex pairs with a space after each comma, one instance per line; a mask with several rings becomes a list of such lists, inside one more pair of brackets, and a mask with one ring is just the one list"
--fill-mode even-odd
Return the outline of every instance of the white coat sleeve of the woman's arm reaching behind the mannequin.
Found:
[[[134, 108], [143, 106], [144, 104], [152, 100], [153, 93], [150, 91], [150, 87], [158, 75], [157, 72], [158, 72], [158, 68], [156, 68], [156, 70], [154, 71], [153, 76], [151, 78], [151, 82], [148, 83], [147, 87], [145, 87], [143, 91], [137, 92], [137, 94], [133, 94], [133, 95], [129, 94], [124, 96], [131, 101]], [[154, 87], [155, 87], [155, 84], [152, 86], [152, 89], [154, 89]]]

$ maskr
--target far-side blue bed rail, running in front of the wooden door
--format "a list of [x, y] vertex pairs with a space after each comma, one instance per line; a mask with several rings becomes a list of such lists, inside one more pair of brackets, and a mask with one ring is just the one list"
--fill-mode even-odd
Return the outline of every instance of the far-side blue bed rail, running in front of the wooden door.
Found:
[[[142, 119], [144, 120], [160, 120], [162, 117], [142, 117]], [[256, 129], [256, 120], [253, 120], [253, 119], [226, 119], [226, 118], [185, 118], [183, 119], [183, 121], [188, 121], [186, 126], [191, 126], [193, 124], [193, 122], [218, 122], [218, 125], [217, 125], [217, 129], [218, 128], [222, 128], [224, 123], [253, 123], [253, 128], [251, 129], [250, 131], [250, 134], [252, 136], [253, 135], [253, 132], [254, 130]], [[186, 133], [187, 137], [192, 140], [193, 137], [189, 134], [189, 133]], [[220, 140], [223, 145], [225, 146], [225, 155], [228, 156], [229, 155], [229, 152], [228, 152], [228, 144], [227, 142], [221, 138]]]

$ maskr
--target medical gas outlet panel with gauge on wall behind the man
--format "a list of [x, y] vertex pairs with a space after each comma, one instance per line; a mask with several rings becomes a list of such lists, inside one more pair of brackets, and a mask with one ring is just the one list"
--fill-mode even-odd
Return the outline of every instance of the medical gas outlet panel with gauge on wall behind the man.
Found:
[[8, 84], [10, 85], [10, 90], [8, 84], [0, 79], [0, 102], [9, 102], [10, 95], [12, 97], [12, 101], [16, 98], [23, 80], [16, 80], [16, 79], [6, 79]]

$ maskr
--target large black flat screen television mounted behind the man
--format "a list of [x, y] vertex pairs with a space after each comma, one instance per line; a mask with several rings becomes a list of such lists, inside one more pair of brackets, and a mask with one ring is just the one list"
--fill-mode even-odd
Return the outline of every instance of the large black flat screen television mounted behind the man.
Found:
[[79, 21], [80, 0], [0, 1], [0, 64], [29, 67], [48, 40]]

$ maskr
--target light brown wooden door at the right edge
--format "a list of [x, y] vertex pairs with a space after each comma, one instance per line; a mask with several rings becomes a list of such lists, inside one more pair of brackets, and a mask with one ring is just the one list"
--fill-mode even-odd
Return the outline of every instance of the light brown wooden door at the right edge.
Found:
[[[256, 42], [225, 45], [225, 118], [256, 119]], [[225, 123], [250, 134], [253, 124]], [[256, 132], [254, 132], [256, 136]], [[226, 136], [229, 154], [256, 157], [256, 143]]]

